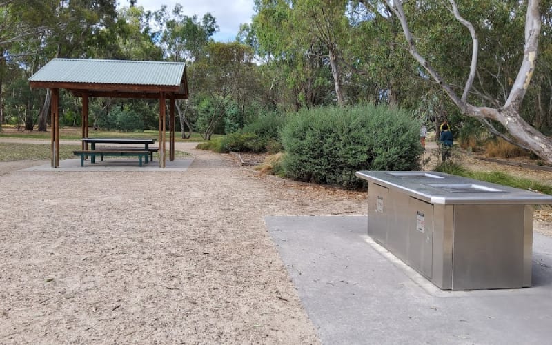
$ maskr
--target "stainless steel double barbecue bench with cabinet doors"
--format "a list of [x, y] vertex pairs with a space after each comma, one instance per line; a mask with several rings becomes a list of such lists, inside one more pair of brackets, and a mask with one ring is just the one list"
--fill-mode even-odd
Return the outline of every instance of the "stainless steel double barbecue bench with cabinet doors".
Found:
[[441, 172], [356, 175], [368, 181], [368, 235], [436, 286], [531, 286], [533, 205], [552, 196]]

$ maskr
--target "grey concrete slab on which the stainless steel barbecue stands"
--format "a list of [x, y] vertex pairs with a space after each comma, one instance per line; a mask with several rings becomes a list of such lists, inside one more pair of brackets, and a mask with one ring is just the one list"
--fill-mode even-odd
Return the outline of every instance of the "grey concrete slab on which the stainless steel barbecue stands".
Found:
[[533, 287], [443, 291], [367, 235], [367, 217], [266, 217], [323, 344], [549, 344], [552, 239]]

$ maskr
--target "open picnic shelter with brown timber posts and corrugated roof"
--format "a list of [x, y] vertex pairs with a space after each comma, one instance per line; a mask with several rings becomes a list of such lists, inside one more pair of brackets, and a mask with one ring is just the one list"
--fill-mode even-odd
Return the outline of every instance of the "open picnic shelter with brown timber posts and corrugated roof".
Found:
[[[88, 138], [90, 97], [159, 99], [159, 168], [175, 159], [175, 100], [188, 99], [186, 64], [180, 62], [99, 59], [52, 59], [29, 78], [31, 88], [50, 88], [51, 165], [59, 167], [59, 90], [82, 97], [82, 137]], [[168, 120], [166, 114], [168, 101]], [[83, 142], [83, 150], [88, 144]]]

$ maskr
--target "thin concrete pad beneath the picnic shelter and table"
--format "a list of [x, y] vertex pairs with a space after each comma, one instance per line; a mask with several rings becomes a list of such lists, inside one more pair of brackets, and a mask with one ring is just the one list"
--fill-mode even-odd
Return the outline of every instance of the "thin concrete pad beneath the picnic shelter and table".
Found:
[[40, 166], [32, 166], [30, 168], [23, 169], [21, 171], [141, 171], [141, 172], [175, 172], [186, 171], [188, 167], [194, 161], [193, 157], [184, 159], [175, 159], [174, 161], [165, 161], [165, 168], [159, 168], [159, 161], [155, 159], [148, 164], [142, 162], [142, 166], [138, 165], [137, 158], [114, 158], [105, 157], [103, 161], [100, 161], [99, 157], [96, 157], [96, 163], [90, 163], [90, 160], [84, 161], [84, 166], [81, 166], [81, 159], [63, 159], [59, 161], [58, 168], [52, 168], [50, 163]]

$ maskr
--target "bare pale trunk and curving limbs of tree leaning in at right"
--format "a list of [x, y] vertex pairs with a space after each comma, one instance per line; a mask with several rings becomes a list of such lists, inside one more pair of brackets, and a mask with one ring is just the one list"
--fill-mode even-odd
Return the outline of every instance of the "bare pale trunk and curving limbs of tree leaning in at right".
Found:
[[[446, 8], [455, 20], [462, 23], [462, 26], [469, 31], [472, 41], [469, 74], [466, 77], [462, 95], [458, 95], [455, 91], [455, 87], [451, 83], [446, 82], [442, 78], [441, 73], [433, 68], [430, 61], [418, 52], [417, 41], [415, 37], [413, 37], [411, 29], [408, 26], [408, 18], [403, 8], [403, 1], [385, 0], [385, 3], [392, 9], [393, 14], [401, 22], [402, 30], [408, 45], [408, 52], [410, 52], [414, 59], [420, 63], [428, 75], [430, 75], [431, 78], [441, 86], [444, 92], [446, 92], [446, 95], [448, 95], [451, 101], [455, 103], [463, 115], [481, 119], [487, 126], [489, 126], [492, 132], [500, 135], [500, 132], [495, 130], [493, 124], [489, 120], [497, 121], [504, 126], [508, 132], [508, 136], [502, 135], [508, 139], [508, 141], [531, 150], [536, 155], [552, 164], [552, 139], [550, 137], [546, 137], [541, 132], [533, 128], [533, 126], [527, 123], [520, 115], [522, 101], [531, 83], [537, 62], [538, 40], [541, 29], [541, 17], [538, 0], [528, 0], [527, 3], [524, 56], [517, 72], [517, 76], [513, 79], [512, 85], [509, 87], [506, 101], [500, 102], [498, 100], [494, 100], [494, 104], [500, 104], [500, 106], [494, 107], [475, 106], [470, 103], [469, 96], [471, 95], [473, 89], [475, 77], [477, 77], [479, 40], [477, 39], [475, 27], [471, 22], [462, 17], [457, 3], [454, 0], [449, 0], [449, 5]], [[520, 3], [520, 1], [515, 1], [514, 3]]]

